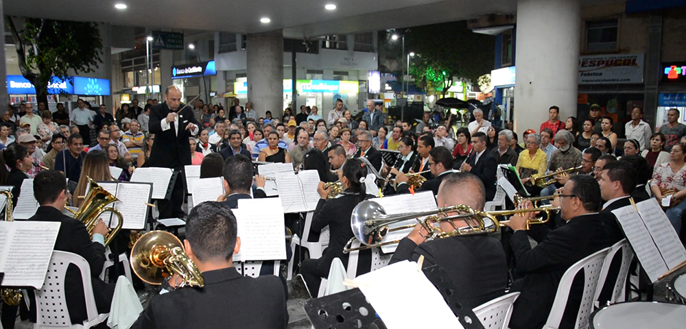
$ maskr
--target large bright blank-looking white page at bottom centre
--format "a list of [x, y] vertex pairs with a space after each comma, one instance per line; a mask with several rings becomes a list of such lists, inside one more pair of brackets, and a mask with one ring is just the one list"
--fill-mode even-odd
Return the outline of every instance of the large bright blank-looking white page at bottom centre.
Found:
[[[388, 329], [463, 328], [434, 284], [417, 267], [417, 263], [403, 260], [358, 276], [355, 283]], [[412, 287], [421, 293], [407, 293], [398, 287]], [[431, 305], [430, 326], [427, 317], [418, 316], [417, 305]]]

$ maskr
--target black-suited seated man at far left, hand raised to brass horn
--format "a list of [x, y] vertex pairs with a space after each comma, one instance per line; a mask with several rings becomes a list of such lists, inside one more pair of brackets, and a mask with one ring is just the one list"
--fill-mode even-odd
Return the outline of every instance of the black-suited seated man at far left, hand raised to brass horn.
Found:
[[[55, 242], [55, 250], [71, 252], [82, 256], [91, 267], [91, 283], [97, 313], [109, 313], [115, 285], [107, 284], [98, 277], [105, 263], [104, 236], [108, 229], [102, 220], [93, 228], [93, 241], [82, 221], [62, 214], [67, 201], [67, 180], [59, 171], [41, 171], [34, 178], [34, 195], [40, 207], [29, 221], [58, 221], [60, 232]], [[30, 292], [31, 321], [36, 322], [36, 304]], [[83, 291], [81, 272], [75, 265], [69, 265], [64, 277], [64, 297], [69, 308], [72, 324], [83, 324], [88, 319], [86, 300]]]

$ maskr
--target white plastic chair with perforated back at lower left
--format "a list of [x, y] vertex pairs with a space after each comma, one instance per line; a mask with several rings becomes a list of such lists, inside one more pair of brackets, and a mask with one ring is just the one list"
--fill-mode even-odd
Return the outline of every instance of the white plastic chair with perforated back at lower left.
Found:
[[[81, 324], [71, 324], [67, 302], [64, 299], [64, 276], [69, 264], [76, 265], [81, 271], [84, 295], [86, 296], [86, 315], [88, 319]], [[73, 288], [72, 288], [73, 289]], [[110, 313], [97, 313], [91, 267], [86, 260], [71, 252], [52, 252], [50, 264], [41, 289], [36, 289], [36, 328], [91, 328], [102, 323]]]

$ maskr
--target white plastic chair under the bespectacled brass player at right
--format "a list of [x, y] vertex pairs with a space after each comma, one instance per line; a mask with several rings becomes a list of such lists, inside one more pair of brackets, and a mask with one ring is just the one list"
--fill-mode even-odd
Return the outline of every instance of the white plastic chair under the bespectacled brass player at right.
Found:
[[545, 329], [557, 329], [560, 327], [563, 313], [565, 313], [565, 306], [569, 299], [569, 290], [571, 283], [579, 271], [584, 271], [584, 292], [581, 298], [581, 305], [576, 316], [576, 324], [574, 328], [588, 328], [589, 317], [593, 311], [593, 300], [595, 297], [595, 290], [598, 289], [598, 279], [600, 278], [600, 271], [605, 261], [605, 257], [610, 252], [611, 247], [606, 247], [591, 256], [579, 260], [576, 264], [571, 265], [565, 274], [560, 278], [557, 293], [553, 306], [550, 309], [547, 321], [545, 321]]

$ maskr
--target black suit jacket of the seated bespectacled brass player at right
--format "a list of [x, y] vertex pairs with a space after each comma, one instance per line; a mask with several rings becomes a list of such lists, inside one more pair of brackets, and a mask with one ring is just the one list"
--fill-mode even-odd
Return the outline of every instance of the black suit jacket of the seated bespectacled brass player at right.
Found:
[[[512, 284], [512, 291], [521, 292], [514, 302], [510, 319], [512, 329], [541, 328], [565, 271], [582, 258], [610, 245], [600, 214], [574, 217], [552, 231], [545, 226], [537, 229], [544, 231], [545, 239], [534, 248], [524, 230], [514, 232], [510, 237], [517, 271], [524, 274]], [[574, 326], [583, 294], [583, 279], [583, 272], [574, 278], [560, 328]]]

